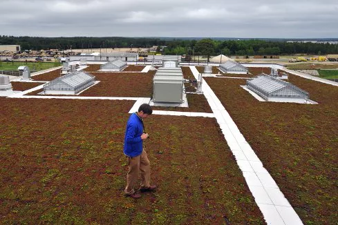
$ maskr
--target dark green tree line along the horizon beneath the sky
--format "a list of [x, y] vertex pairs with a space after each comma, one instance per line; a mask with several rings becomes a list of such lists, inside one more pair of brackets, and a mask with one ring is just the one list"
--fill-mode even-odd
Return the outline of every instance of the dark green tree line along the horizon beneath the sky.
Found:
[[[0, 35], [1, 45], [20, 45], [21, 50], [70, 48], [150, 48], [165, 55], [327, 55], [337, 54], [338, 44], [288, 41], [161, 39], [133, 37], [14, 37]], [[165, 48], [160, 48], [165, 46]]]

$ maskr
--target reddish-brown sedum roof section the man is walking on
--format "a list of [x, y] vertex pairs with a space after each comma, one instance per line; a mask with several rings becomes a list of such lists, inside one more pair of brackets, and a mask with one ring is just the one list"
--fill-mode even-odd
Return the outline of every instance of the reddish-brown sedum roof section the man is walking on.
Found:
[[3, 224], [264, 224], [215, 119], [147, 118], [158, 190], [136, 201], [122, 153], [135, 101], [0, 101]]

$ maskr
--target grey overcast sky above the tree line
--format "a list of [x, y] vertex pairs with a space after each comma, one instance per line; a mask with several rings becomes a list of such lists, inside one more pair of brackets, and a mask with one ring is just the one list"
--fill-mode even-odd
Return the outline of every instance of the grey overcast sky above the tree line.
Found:
[[338, 0], [0, 0], [0, 35], [338, 38]]

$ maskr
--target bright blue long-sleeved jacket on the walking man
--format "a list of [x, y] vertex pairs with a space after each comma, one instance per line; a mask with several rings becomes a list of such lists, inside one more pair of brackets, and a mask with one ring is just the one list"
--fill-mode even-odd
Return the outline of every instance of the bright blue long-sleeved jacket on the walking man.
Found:
[[141, 135], [143, 133], [143, 124], [136, 115], [136, 113], [131, 114], [126, 123], [126, 133], [124, 136], [124, 146], [123, 153], [129, 157], [135, 157], [141, 155], [143, 149], [143, 140]]

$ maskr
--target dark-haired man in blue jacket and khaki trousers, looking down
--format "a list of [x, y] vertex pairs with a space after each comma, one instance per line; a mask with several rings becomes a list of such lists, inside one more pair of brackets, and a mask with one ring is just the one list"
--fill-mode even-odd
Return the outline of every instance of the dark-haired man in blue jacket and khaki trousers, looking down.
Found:
[[127, 157], [129, 170], [126, 174], [124, 193], [135, 199], [141, 197], [134, 190], [139, 173], [141, 173], [141, 192], [156, 189], [155, 185], [150, 185], [150, 163], [146, 151], [143, 150], [143, 141], [149, 137], [144, 130], [143, 119], [147, 118], [151, 113], [153, 113], [151, 106], [142, 104], [138, 108], [138, 112], [133, 113], [126, 123], [123, 153]]

